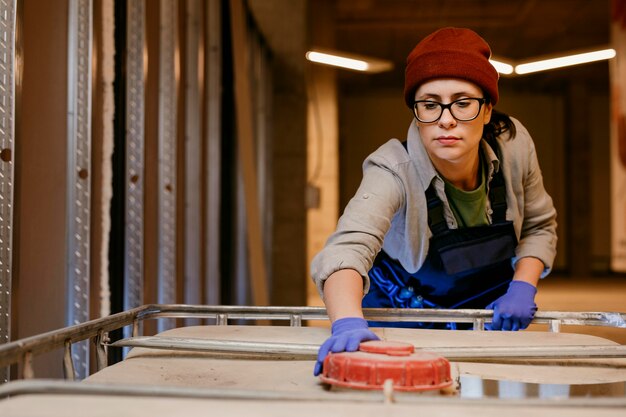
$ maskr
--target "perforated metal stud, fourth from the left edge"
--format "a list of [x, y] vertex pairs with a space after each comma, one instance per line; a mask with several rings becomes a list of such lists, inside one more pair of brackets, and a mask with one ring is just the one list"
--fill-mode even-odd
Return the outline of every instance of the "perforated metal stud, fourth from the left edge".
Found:
[[[176, 19], [173, 0], [161, 0], [159, 33], [159, 270], [158, 302], [176, 301]], [[159, 322], [159, 331], [173, 327]]]

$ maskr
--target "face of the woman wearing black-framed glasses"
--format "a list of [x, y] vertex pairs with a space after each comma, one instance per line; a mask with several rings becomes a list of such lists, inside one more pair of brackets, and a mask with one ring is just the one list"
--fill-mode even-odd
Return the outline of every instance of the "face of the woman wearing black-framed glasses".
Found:
[[[461, 98], [484, 98], [476, 84], [453, 78], [427, 81], [415, 92], [415, 100], [432, 100], [443, 104]], [[460, 122], [445, 109], [439, 120], [422, 123], [416, 120], [422, 142], [430, 158], [435, 162], [471, 163], [478, 155], [483, 126], [491, 118], [491, 104], [485, 103], [478, 117]]]

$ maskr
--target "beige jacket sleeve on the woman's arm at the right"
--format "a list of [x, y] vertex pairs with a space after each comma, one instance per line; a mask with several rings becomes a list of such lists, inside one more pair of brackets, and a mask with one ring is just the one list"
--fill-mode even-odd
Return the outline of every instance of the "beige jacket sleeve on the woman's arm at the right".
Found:
[[534, 257], [543, 262], [545, 268], [541, 277], [548, 275], [556, 256], [556, 209], [552, 198], [543, 185], [543, 176], [539, 167], [535, 145], [528, 131], [516, 123], [519, 145], [525, 149], [526, 159], [520, 169], [523, 171], [523, 221], [520, 241], [516, 249], [514, 263], [524, 257]]

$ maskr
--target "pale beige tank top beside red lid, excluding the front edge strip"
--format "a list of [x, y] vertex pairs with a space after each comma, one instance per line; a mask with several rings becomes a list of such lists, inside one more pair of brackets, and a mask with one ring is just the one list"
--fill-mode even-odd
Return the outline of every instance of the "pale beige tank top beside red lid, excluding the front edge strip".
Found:
[[[547, 332], [473, 332], [414, 329], [374, 329], [387, 340], [417, 347], [481, 347], [614, 345], [589, 335]], [[324, 328], [265, 326], [193, 326], [168, 330], [163, 336], [258, 342], [321, 344], [329, 335]], [[88, 378], [88, 382], [165, 384], [184, 387], [232, 387], [320, 392], [313, 377], [313, 361], [233, 359], [198, 352], [135, 348], [127, 359]], [[461, 375], [531, 383], [588, 384], [626, 380], [626, 363], [608, 360], [509, 360], [503, 363], [454, 363]]]

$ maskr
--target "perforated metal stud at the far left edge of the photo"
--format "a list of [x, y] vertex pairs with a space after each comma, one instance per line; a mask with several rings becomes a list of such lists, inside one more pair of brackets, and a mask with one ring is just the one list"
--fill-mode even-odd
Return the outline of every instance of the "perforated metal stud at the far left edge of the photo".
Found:
[[[11, 339], [15, 140], [15, 1], [0, 1], [0, 344]], [[9, 379], [0, 368], [0, 383]]]

